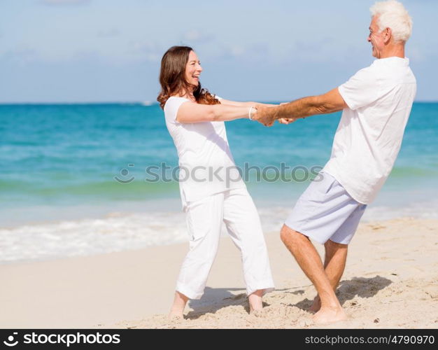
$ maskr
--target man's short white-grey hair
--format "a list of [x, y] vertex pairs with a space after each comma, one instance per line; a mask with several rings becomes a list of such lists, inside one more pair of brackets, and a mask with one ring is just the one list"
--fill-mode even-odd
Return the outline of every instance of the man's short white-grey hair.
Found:
[[412, 33], [412, 19], [403, 4], [396, 0], [374, 3], [369, 9], [372, 17], [379, 16], [379, 31], [390, 28], [394, 41], [407, 41]]

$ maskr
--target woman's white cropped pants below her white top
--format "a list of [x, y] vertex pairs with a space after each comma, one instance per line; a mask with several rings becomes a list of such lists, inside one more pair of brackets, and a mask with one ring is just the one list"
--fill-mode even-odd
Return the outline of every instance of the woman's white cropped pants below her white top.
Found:
[[204, 293], [216, 258], [222, 222], [241, 251], [246, 293], [274, 289], [260, 218], [246, 188], [227, 190], [186, 204], [190, 251], [185, 256], [176, 290], [190, 299]]

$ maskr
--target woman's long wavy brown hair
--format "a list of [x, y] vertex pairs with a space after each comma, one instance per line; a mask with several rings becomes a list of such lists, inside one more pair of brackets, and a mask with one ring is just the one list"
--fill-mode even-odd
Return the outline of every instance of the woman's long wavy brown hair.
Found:
[[[157, 97], [160, 107], [164, 109], [164, 104], [172, 95], [181, 91], [190, 91], [194, 86], [185, 80], [185, 66], [188, 62], [192, 48], [188, 46], [172, 46], [164, 53], [161, 59], [160, 85], [161, 91]], [[218, 99], [203, 89], [201, 83], [195, 87], [193, 96], [199, 104], [220, 104]]]

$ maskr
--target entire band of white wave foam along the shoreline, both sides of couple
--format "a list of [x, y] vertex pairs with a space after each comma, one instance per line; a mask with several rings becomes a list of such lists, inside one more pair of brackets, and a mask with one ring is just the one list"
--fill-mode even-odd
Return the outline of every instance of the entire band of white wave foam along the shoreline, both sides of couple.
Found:
[[[264, 232], [279, 232], [292, 207], [258, 205]], [[404, 207], [369, 206], [363, 221], [390, 218], [438, 218], [438, 201], [414, 202]], [[224, 225], [225, 226], [225, 225]], [[225, 234], [225, 227], [222, 227]], [[181, 211], [108, 214], [104, 218], [20, 225], [0, 229], [0, 262], [48, 260], [76, 255], [127, 251], [188, 241]]]

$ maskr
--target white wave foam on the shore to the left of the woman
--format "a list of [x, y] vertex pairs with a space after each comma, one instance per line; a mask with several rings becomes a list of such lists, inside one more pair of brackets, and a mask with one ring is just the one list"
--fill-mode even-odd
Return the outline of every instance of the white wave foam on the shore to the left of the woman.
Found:
[[181, 212], [23, 225], [0, 230], [0, 262], [125, 251], [187, 240]]

